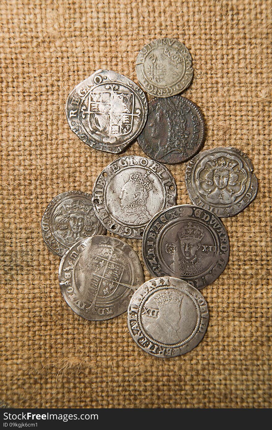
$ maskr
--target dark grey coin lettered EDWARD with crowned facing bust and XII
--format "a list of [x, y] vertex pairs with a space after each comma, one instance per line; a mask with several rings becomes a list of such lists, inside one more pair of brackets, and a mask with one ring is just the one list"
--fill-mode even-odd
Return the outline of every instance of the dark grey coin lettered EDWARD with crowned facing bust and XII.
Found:
[[173, 206], [155, 215], [142, 242], [142, 255], [152, 276], [184, 279], [197, 289], [218, 278], [229, 254], [222, 221], [192, 205]]

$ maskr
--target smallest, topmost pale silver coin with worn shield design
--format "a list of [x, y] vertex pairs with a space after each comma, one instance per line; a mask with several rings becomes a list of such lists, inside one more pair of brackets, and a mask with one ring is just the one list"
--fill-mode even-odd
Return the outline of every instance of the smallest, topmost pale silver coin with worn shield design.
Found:
[[177, 39], [152, 40], [138, 54], [136, 74], [146, 92], [155, 97], [169, 97], [190, 85], [192, 57]]

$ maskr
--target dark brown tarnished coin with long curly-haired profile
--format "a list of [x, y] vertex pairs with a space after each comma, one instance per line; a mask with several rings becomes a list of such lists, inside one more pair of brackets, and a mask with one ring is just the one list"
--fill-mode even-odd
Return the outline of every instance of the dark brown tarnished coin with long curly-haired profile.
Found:
[[204, 119], [195, 103], [181, 95], [154, 98], [138, 142], [148, 157], [161, 163], [182, 163], [201, 148]]

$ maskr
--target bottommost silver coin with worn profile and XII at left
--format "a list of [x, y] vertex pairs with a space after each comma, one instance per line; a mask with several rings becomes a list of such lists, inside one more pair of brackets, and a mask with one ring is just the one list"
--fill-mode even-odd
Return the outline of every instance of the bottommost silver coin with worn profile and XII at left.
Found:
[[133, 294], [127, 322], [140, 348], [156, 357], [171, 358], [199, 344], [208, 327], [209, 310], [196, 288], [165, 276], [145, 282]]

